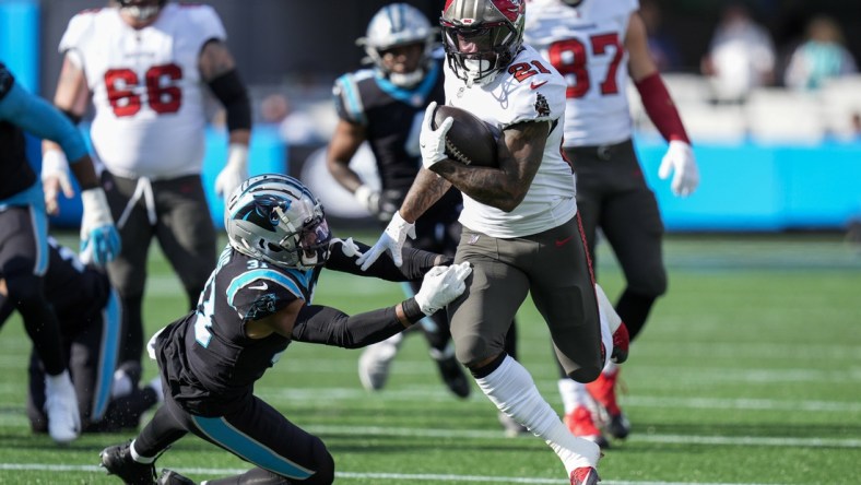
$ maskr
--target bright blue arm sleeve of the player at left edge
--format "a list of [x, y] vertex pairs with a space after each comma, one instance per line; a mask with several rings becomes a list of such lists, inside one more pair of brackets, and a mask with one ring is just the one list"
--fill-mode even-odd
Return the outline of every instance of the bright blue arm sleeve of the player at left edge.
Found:
[[0, 99], [0, 119], [38, 138], [57, 142], [71, 163], [80, 161], [87, 153], [84, 138], [69, 118], [17, 83], [13, 83], [9, 93]]

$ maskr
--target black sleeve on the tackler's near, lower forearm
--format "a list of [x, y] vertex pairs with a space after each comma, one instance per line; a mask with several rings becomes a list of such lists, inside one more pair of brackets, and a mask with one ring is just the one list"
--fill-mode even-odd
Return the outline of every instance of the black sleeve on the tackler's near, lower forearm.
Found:
[[[412, 319], [411, 319], [412, 321]], [[319, 305], [304, 307], [293, 326], [293, 340], [344, 348], [359, 348], [381, 342], [404, 330], [394, 307], [354, 316]]]

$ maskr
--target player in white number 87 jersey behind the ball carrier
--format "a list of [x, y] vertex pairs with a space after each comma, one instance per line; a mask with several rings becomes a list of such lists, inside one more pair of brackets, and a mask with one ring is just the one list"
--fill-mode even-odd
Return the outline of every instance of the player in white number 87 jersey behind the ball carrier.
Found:
[[[577, 206], [589, 253], [594, 261], [601, 228], [625, 274], [627, 286], [615, 308], [633, 340], [667, 291], [667, 272], [658, 203], [632, 144], [629, 80], [669, 142], [659, 176], [673, 174], [671, 188], [680, 197], [689, 196], [699, 184], [691, 141], [649, 54], [637, 0], [531, 0], [529, 9], [526, 42], [567, 83], [563, 146], [577, 173]], [[565, 421], [575, 435], [606, 446], [595, 423], [616, 438], [628, 435], [630, 425], [615, 395], [617, 379], [618, 367], [612, 363], [586, 386], [562, 374]]]

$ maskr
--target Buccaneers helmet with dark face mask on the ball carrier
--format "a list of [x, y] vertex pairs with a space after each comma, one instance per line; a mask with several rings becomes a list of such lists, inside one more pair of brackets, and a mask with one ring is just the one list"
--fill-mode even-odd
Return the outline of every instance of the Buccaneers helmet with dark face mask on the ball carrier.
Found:
[[447, 0], [439, 24], [448, 63], [468, 85], [492, 82], [523, 44], [524, 0]]

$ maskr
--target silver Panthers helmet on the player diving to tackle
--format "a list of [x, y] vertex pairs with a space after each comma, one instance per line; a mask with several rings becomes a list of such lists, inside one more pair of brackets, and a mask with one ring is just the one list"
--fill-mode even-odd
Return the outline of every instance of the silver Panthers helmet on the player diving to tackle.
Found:
[[329, 259], [332, 234], [320, 201], [286, 175], [258, 175], [237, 187], [224, 227], [235, 250], [281, 268], [306, 271]]

